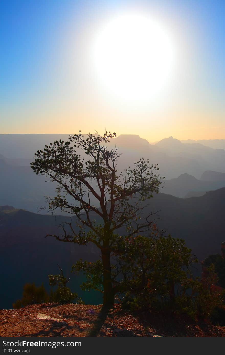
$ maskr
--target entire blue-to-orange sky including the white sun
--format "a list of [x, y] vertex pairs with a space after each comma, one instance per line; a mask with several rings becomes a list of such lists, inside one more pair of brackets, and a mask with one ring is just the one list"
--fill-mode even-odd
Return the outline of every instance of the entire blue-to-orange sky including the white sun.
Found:
[[0, 13], [0, 133], [225, 139], [224, 0], [1, 0]]

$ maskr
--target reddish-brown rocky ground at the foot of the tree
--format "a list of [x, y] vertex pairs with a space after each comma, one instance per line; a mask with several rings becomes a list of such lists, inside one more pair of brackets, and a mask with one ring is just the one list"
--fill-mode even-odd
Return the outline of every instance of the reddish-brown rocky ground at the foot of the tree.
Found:
[[102, 306], [39, 304], [0, 310], [1, 337], [225, 337], [225, 327], [175, 314]]

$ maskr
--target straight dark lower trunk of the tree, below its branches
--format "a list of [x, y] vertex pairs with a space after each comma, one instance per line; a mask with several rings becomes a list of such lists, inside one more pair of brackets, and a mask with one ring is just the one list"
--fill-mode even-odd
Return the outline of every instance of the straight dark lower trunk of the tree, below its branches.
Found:
[[103, 306], [112, 308], [114, 305], [114, 290], [112, 286], [112, 273], [110, 263], [110, 252], [102, 250], [102, 264], [103, 264]]

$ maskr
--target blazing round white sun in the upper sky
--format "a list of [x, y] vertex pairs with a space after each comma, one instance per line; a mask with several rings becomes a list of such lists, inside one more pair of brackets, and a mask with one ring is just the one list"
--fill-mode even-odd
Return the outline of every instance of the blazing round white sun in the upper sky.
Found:
[[95, 35], [91, 56], [103, 90], [136, 103], [162, 93], [172, 80], [176, 57], [168, 30], [135, 13], [105, 23]]

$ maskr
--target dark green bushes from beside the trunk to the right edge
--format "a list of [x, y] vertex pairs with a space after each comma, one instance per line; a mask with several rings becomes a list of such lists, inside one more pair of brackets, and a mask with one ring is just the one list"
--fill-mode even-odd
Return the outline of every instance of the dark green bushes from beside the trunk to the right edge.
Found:
[[118, 263], [123, 274], [120, 287], [126, 290], [123, 308], [163, 309], [207, 320], [216, 309], [223, 309], [225, 290], [212, 288], [219, 280], [214, 265], [203, 280], [194, 278], [191, 267], [197, 260], [184, 240], [138, 236], [122, 247], [126, 253], [118, 256]]

